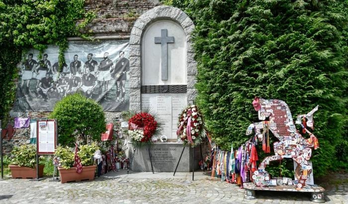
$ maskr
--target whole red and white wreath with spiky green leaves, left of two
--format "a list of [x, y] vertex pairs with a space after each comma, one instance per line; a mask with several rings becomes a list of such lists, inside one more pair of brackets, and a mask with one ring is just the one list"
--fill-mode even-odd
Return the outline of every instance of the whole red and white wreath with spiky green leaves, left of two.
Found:
[[142, 112], [127, 112], [124, 119], [128, 120], [128, 135], [134, 147], [144, 147], [152, 144], [152, 137], [159, 137], [162, 131], [162, 121], [157, 114], [150, 113], [149, 108]]

